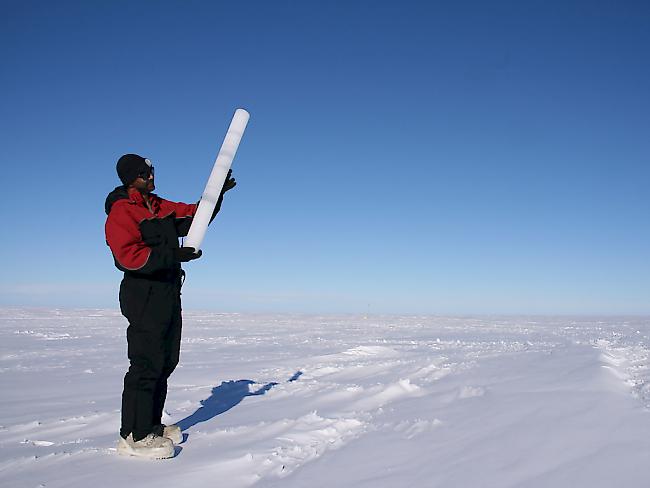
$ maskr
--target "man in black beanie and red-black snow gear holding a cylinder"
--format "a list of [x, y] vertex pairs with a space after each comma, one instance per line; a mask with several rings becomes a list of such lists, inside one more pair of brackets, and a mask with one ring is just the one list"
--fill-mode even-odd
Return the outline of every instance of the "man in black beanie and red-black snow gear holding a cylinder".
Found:
[[[180, 263], [201, 257], [183, 248], [197, 204], [175, 203], [155, 195], [151, 161], [125, 154], [117, 162], [122, 185], [106, 198], [106, 242], [115, 265], [124, 271], [120, 310], [127, 329], [129, 370], [124, 376], [119, 454], [173, 457], [182, 440], [178, 426], [162, 424], [167, 379], [178, 364], [181, 341]], [[236, 185], [228, 173], [223, 195]], [[211, 220], [212, 221], [212, 220]]]

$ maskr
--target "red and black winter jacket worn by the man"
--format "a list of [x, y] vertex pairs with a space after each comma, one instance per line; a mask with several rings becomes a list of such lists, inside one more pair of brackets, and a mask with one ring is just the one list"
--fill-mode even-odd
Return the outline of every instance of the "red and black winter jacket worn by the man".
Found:
[[187, 235], [197, 205], [149, 195], [151, 210], [135, 189], [119, 186], [106, 198], [106, 243], [122, 271], [153, 274], [179, 268], [174, 250]]

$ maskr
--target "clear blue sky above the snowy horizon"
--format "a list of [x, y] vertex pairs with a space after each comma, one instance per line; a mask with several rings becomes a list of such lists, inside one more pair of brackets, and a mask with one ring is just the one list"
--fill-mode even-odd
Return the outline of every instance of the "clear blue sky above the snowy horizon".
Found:
[[5, 1], [0, 305], [116, 307], [117, 158], [244, 107], [186, 308], [648, 314], [649, 5]]

